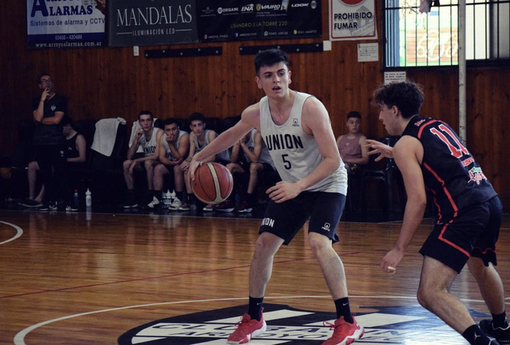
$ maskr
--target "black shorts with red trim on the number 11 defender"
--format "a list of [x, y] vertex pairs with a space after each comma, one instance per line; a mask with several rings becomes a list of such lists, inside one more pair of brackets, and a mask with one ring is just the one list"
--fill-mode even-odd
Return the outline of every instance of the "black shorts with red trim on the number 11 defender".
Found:
[[493, 197], [483, 204], [460, 210], [457, 217], [436, 224], [420, 254], [437, 259], [458, 273], [469, 257], [485, 266], [497, 265], [496, 242], [500, 234], [502, 204]]

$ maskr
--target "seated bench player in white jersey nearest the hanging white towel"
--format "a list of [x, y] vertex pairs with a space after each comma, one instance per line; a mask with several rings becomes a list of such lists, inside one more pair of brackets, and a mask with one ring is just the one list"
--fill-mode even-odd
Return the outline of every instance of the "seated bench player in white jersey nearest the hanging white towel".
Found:
[[[140, 128], [134, 135], [132, 145], [128, 150], [128, 159], [122, 164], [125, 184], [128, 187], [128, 198], [123, 208], [134, 208], [138, 206], [134, 195], [134, 170], [145, 170], [147, 176], [147, 188], [150, 201], [157, 199], [152, 181], [154, 166], [159, 163], [158, 142], [163, 136], [163, 130], [154, 128], [154, 116], [152, 112], [142, 110], [138, 115]], [[143, 148], [143, 157], [134, 158], [139, 146]], [[147, 203], [148, 204], [148, 203]]]

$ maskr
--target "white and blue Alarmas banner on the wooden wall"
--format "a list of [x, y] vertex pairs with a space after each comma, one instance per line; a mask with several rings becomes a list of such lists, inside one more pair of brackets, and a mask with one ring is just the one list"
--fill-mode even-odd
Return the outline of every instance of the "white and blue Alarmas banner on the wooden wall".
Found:
[[105, 45], [105, 0], [27, 0], [28, 48]]

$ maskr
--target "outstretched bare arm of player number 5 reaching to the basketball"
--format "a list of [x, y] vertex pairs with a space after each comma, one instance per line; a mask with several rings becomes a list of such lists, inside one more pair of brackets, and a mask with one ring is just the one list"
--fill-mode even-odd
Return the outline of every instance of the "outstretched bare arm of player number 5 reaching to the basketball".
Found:
[[234, 146], [239, 139], [241, 139], [252, 128], [260, 127], [260, 107], [258, 103], [249, 106], [241, 114], [241, 120], [238, 121], [232, 128], [225, 130], [221, 133], [212, 143], [205, 146], [203, 150], [194, 155], [191, 163], [191, 176], [192, 180], [195, 177], [195, 170], [201, 164], [203, 159], [211, 155], [216, 155], [218, 152], [226, 150]]

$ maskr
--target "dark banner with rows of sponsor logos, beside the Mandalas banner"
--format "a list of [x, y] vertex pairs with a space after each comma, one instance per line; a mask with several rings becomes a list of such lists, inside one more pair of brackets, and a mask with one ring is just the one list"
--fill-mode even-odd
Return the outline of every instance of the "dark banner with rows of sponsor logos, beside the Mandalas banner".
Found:
[[201, 41], [321, 37], [320, 0], [197, 0]]

